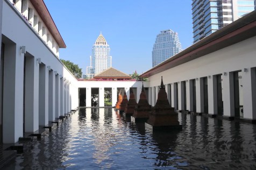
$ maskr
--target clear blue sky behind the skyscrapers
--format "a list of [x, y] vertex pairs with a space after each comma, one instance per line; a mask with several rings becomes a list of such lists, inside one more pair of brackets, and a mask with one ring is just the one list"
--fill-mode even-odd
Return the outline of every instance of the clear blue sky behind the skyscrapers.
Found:
[[152, 68], [152, 49], [160, 31], [177, 32], [182, 49], [193, 43], [191, 0], [44, 0], [67, 48], [60, 58], [86, 74], [91, 49], [102, 32], [112, 67], [141, 74]]

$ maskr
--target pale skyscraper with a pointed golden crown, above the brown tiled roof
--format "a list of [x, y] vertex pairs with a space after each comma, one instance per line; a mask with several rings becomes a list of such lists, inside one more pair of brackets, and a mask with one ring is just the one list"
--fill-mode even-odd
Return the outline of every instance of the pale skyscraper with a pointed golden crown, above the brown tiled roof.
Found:
[[99, 34], [95, 41], [90, 56], [90, 66], [87, 66], [87, 77], [93, 77], [112, 65], [112, 56], [110, 56], [110, 48], [104, 36]]

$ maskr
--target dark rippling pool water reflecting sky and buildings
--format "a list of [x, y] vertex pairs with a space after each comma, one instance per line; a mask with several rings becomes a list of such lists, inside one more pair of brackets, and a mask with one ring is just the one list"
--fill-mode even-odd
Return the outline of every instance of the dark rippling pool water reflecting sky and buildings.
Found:
[[80, 108], [5, 169], [256, 169], [256, 126], [179, 114], [182, 131], [153, 132], [113, 108]]

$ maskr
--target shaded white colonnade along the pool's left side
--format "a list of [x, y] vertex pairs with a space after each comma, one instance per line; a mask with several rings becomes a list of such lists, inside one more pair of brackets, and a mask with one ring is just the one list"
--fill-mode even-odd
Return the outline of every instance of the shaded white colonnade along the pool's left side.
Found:
[[7, 38], [2, 52], [3, 143], [14, 143], [25, 132], [35, 132], [70, 112], [72, 84], [53, 66], [28, 51], [23, 53]]

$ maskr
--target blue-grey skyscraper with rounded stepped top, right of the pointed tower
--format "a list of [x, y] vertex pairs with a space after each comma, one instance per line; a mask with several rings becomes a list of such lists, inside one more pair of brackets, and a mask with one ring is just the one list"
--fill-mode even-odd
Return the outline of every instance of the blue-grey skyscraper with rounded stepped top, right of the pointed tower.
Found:
[[181, 43], [179, 41], [178, 33], [171, 29], [161, 31], [155, 39], [152, 51], [152, 66], [158, 65], [166, 59], [180, 53]]

